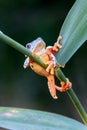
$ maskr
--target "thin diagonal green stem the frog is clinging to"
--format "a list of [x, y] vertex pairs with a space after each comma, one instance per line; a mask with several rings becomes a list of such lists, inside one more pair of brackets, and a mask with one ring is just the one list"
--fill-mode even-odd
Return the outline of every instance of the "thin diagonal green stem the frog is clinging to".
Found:
[[[15, 48], [16, 50], [18, 50], [19, 52], [21, 52], [24, 55], [27, 55], [31, 58], [33, 58], [38, 64], [40, 64], [43, 67], [47, 67], [44, 62], [37, 56], [32, 55], [32, 53], [26, 49], [24, 46], [22, 46], [21, 44], [19, 44], [18, 42], [16, 42], [15, 40], [11, 39], [10, 37], [8, 37], [7, 35], [5, 35], [4, 33], [2, 33], [0, 31], [0, 40], [5, 42], [6, 44], [10, 45], [11, 47]], [[58, 79], [60, 79], [61, 81], [66, 82], [66, 77], [63, 74], [63, 72], [61, 71], [61, 69], [56, 69], [55, 70], [55, 75], [57, 76]], [[87, 114], [83, 108], [83, 106], [81, 105], [79, 99], [77, 98], [75, 92], [73, 91], [72, 88], [70, 88], [69, 90], [67, 90], [67, 93], [72, 101], [72, 103], [74, 104], [75, 108], [77, 109], [81, 119], [83, 120], [84, 124], [87, 125]]]

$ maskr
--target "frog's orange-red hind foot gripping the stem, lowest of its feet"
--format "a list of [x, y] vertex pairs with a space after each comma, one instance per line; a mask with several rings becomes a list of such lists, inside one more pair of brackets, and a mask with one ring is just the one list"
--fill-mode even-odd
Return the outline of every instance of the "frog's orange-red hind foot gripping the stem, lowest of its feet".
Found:
[[67, 91], [68, 89], [71, 88], [72, 86], [72, 83], [69, 81], [69, 79], [66, 79], [67, 81], [66, 82], [61, 82], [61, 87], [57, 87], [56, 86], [56, 89], [60, 92], [65, 92]]

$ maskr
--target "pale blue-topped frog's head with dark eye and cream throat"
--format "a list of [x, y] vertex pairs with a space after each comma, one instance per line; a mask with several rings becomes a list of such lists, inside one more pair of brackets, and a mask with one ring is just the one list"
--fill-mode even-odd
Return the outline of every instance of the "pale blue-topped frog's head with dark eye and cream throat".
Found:
[[37, 54], [37, 53], [43, 53], [45, 50], [46, 44], [43, 41], [42, 38], [37, 38], [36, 40], [26, 44], [26, 48], [29, 49], [31, 52]]

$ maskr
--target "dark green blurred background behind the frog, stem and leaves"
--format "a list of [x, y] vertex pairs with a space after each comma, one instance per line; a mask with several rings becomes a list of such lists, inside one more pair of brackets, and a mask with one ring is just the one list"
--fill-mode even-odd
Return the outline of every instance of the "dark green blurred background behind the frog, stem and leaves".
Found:
[[[74, 2], [0, 0], [0, 30], [24, 46], [39, 36], [47, 45], [53, 45]], [[86, 52], [84, 43], [63, 72], [72, 81], [73, 89], [87, 110]], [[24, 70], [24, 60], [24, 55], [0, 42], [0, 106], [49, 111], [81, 121], [67, 93], [57, 92], [59, 99], [52, 99], [47, 79], [30, 68]]]

